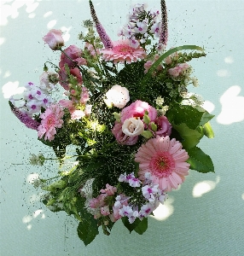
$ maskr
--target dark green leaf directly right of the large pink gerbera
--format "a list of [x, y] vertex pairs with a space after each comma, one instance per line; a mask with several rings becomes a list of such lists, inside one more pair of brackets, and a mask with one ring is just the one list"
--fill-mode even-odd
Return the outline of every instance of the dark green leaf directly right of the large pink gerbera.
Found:
[[187, 149], [189, 154], [190, 169], [197, 172], [214, 172], [214, 166], [209, 155], [205, 154], [200, 148], [189, 148]]

